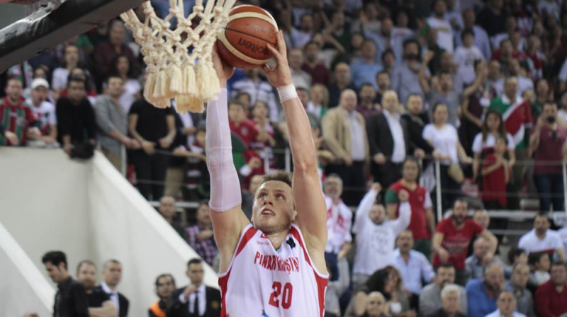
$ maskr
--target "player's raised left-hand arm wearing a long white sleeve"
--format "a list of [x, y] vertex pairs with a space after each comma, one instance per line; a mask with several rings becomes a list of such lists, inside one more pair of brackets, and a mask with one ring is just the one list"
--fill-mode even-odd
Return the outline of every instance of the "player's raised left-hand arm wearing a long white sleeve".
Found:
[[232, 143], [228, 124], [228, 101], [226, 81], [234, 69], [220, 61], [216, 50], [213, 63], [220, 81], [221, 92], [216, 101], [207, 105], [207, 165], [210, 174], [209, 206], [213, 210], [215, 241], [220, 252], [220, 272], [228, 267], [236, 248], [240, 232], [249, 224], [242, 212], [240, 180], [232, 161]]

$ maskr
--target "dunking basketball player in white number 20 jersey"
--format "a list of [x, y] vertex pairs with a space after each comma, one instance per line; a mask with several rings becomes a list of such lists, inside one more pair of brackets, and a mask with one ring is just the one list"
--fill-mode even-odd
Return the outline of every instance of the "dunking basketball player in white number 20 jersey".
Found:
[[264, 176], [254, 195], [252, 222], [240, 207], [240, 183], [232, 163], [226, 81], [234, 69], [217, 52], [213, 62], [222, 91], [207, 105], [210, 209], [220, 252], [221, 316], [323, 316], [327, 270], [327, 212], [315, 145], [305, 109], [288, 67], [283, 33], [277, 37], [276, 67], [263, 67], [278, 89], [289, 129], [293, 178]]

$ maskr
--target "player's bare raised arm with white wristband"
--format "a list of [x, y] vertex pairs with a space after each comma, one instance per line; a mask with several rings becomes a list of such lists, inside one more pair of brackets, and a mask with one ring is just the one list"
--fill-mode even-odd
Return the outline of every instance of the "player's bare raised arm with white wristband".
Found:
[[[297, 224], [303, 231], [308, 247], [324, 250], [327, 243], [327, 212], [320, 185], [315, 144], [305, 108], [299, 100], [291, 81], [286, 42], [278, 33], [278, 48], [269, 46], [277, 65], [274, 69], [263, 67], [270, 83], [278, 93], [286, 114], [289, 144], [293, 156], [293, 196], [297, 210]], [[315, 260], [315, 259], [314, 259]]]

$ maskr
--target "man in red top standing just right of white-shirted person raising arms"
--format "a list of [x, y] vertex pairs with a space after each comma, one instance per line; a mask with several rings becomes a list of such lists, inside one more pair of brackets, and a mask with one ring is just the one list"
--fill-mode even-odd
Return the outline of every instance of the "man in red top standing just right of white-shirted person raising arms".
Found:
[[[410, 195], [409, 202], [412, 209], [410, 225], [408, 230], [412, 233], [412, 247], [423, 253], [425, 258], [431, 255], [431, 237], [435, 233], [435, 215], [433, 214], [430, 193], [422, 185], [417, 183], [420, 175], [420, 166], [415, 159], [405, 159], [402, 165], [402, 179], [393, 183], [388, 191], [384, 202], [388, 211], [388, 218], [398, 217], [398, 194], [405, 190]], [[415, 238], [415, 245], [413, 239]]]

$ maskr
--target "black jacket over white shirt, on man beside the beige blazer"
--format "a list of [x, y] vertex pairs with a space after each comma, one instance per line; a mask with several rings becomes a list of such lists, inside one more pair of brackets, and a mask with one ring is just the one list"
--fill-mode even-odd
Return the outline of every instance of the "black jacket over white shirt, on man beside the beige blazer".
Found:
[[[402, 120], [400, 120], [400, 125], [402, 126], [403, 138], [405, 140], [405, 154], [412, 155], [413, 148], [410, 146], [408, 127], [405, 126], [405, 122]], [[370, 156], [381, 153], [389, 161], [394, 151], [394, 139], [386, 116], [383, 113], [369, 116], [366, 120], [366, 132], [368, 133], [368, 142], [370, 144]]]

